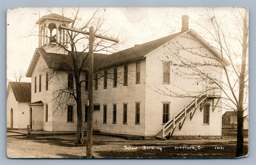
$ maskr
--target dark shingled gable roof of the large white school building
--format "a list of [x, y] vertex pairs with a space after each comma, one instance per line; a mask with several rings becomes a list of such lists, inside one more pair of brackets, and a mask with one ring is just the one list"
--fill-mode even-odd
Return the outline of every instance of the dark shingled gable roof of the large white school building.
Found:
[[[144, 44], [138, 44], [138, 45], [135, 45], [134, 47], [113, 53], [111, 55], [94, 53], [94, 69], [118, 65], [124, 62], [144, 58], [146, 55], [150, 54], [150, 52], [156, 50], [158, 47], [168, 43], [172, 39], [175, 39], [183, 35], [184, 33], [189, 33], [189, 32], [195, 35], [197, 39], [202, 44], [205, 44], [207, 48], [210, 49], [210, 51], [213, 52], [218, 58], [221, 58], [221, 55], [212, 46], [210, 46], [200, 35], [195, 33], [195, 31], [189, 29], [185, 32], [174, 33], [172, 35], [168, 35], [166, 37], [162, 37], [157, 40], [153, 40]], [[87, 52], [83, 52], [83, 53], [78, 52], [78, 53], [82, 56], [82, 58], [83, 56], [85, 57], [88, 54]], [[44, 58], [49, 68], [53, 68], [56, 62], [60, 63], [61, 60], [62, 62], [68, 62], [68, 63], [72, 62], [70, 59], [68, 59], [68, 56], [63, 56], [62, 54], [47, 53], [43, 48], [37, 48], [32, 58], [32, 61], [30, 63], [30, 66], [27, 70], [26, 77], [31, 77], [31, 74], [36, 65], [39, 55], [41, 55]], [[224, 61], [225, 61], [224, 62], [225, 65], [230, 65], [230, 63], [225, 58], [224, 58]], [[88, 66], [86, 62], [84, 65], [85, 67]]]

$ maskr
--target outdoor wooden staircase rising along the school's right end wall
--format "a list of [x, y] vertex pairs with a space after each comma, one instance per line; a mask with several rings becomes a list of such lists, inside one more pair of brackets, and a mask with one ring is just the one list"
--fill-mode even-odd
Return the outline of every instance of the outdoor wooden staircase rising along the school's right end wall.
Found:
[[[195, 110], [200, 106], [201, 103], [205, 103], [207, 100], [207, 95], [202, 95], [199, 98], [192, 99], [188, 104], [184, 106], [182, 110], [180, 110], [176, 115], [173, 116], [173, 118], [169, 121], [167, 121], [163, 128], [158, 134], [156, 135], [156, 138], [165, 140], [167, 135], [168, 138], [171, 138], [171, 135], [173, 134], [174, 130], [178, 127], [180, 130], [182, 129], [182, 126], [184, 124], [184, 121], [189, 116], [190, 120], [192, 120]], [[202, 107], [200, 107], [202, 109]]]

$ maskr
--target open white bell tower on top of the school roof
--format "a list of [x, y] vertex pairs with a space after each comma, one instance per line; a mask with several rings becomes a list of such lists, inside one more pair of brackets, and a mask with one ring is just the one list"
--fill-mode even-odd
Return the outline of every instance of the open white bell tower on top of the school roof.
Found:
[[71, 22], [71, 19], [56, 13], [41, 17], [36, 22], [39, 25], [38, 47], [47, 53], [67, 54], [63, 46], [68, 48], [68, 33], [60, 26], [68, 26]]

